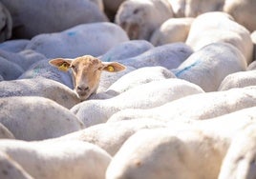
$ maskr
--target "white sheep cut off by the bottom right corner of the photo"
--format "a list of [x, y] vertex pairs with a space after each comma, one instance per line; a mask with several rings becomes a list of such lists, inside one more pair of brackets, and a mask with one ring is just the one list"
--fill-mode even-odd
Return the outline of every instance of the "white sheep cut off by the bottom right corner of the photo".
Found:
[[255, 129], [255, 123], [249, 124], [235, 135], [224, 157], [219, 179], [252, 179], [256, 177]]

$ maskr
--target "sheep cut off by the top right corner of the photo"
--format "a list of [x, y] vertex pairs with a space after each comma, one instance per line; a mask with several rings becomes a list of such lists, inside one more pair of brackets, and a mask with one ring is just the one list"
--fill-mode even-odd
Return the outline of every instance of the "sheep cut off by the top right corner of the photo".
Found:
[[224, 11], [247, 30], [256, 30], [256, 2], [254, 0], [225, 0]]

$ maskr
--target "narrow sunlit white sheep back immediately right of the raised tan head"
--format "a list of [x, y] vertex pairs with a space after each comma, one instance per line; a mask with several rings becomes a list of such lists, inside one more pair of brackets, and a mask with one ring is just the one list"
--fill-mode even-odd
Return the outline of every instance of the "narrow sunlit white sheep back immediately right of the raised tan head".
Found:
[[176, 76], [173, 72], [163, 67], [140, 68], [120, 77], [105, 91], [105, 93], [117, 95], [139, 85], [168, 78], [176, 78]]

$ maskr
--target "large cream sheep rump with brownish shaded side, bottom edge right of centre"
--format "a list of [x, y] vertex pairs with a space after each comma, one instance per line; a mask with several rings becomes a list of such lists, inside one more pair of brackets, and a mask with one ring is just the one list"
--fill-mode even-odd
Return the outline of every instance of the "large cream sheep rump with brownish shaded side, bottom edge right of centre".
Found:
[[223, 143], [218, 134], [197, 129], [139, 130], [117, 151], [106, 179], [215, 179], [224, 157]]

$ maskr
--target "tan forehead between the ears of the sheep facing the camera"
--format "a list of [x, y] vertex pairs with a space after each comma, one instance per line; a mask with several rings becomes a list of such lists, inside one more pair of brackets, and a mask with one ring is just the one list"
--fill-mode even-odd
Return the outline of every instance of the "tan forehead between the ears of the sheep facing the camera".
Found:
[[72, 62], [72, 66], [79, 67], [82, 69], [95, 69], [101, 65], [101, 61], [91, 55], [85, 55], [75, 58]]

